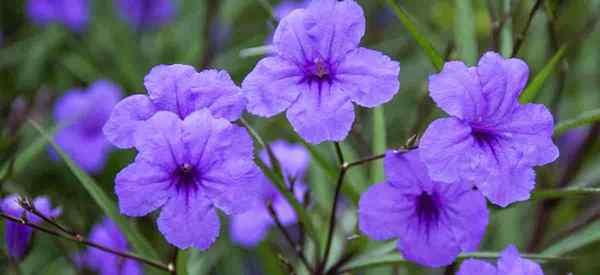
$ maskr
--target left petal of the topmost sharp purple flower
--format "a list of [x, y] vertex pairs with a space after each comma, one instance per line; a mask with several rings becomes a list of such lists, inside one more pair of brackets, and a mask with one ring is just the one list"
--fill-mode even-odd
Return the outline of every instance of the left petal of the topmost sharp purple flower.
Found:
[[304, 90], [303, 73], [279, 57], [263, 58], [242, 82], [252, 114], [271, 117], [287, 109]]

